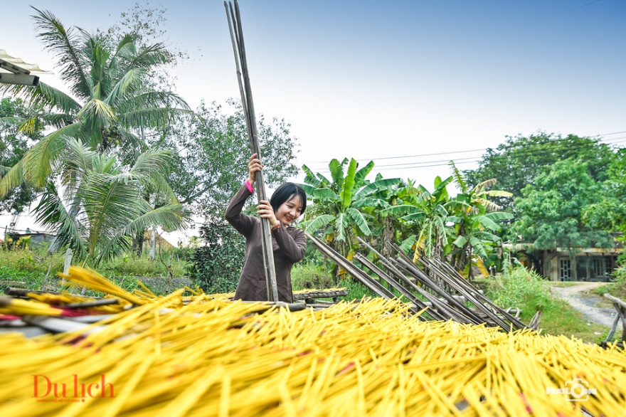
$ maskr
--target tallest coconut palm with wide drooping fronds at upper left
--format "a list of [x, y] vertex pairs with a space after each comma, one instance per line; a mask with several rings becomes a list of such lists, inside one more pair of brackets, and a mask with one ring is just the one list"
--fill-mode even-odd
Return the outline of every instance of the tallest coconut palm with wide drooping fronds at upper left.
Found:
[[[56, 56], [60, 79], [70, 94], [46, 83], [1, 88], [43, 105], [51, 112], [56, 130], [0, 179], [0, 199], [23, 182], [45, 186], [63, 165], [64, 149], [72, 139], [99, 152], [125, 154], [129, 157], [124, 162], [132, 164], [144, 150], [144, 130], [164, 125], [176, 112], [189, 111], [181, 97], [157, 90], [149, 82], [149, 73], [171, 59], [163, 45], [138, 47], [132, 35], [115, 43], [103, 33], [65, 28], [49, 11], [35, 11], [38, 37]], [[23, 129], [31, 129], [33, 122], [24, 122]]]

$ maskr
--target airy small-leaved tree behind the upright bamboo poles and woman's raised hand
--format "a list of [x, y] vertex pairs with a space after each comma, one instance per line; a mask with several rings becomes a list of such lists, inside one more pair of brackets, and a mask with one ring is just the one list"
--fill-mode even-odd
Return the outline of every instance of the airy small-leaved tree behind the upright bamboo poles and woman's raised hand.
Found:
[[[228, 100], [228, 108], [204, 102], [196, 117], [183, 116], [153, 146], [176, 151], [168, 171], [169, 184], [182, 204], [196, 214], [222, 217], [223, 211], [248, 175], [250, 144], [240, 102]], [[265, 184], [275, 187], [297, 174], [292, 163], [297, 138], [285, 120], [258, 117], [258, 133], [265, 169]]]

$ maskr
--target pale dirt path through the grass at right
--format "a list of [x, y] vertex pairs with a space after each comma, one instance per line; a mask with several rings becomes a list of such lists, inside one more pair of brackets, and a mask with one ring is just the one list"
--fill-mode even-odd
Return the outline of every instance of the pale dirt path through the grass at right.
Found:
[[611, 327], [615, 317], [615, 309], [610, 307], [598, 307], [600, 297], [598, 295], [582, 294], [581, 292], [599, 287], [605, 283], [580, 283], [568, 287], [552, 287], [552, 293], [567, 301], [575, 310], [583, 313], [590, 322], [604, 324]]

